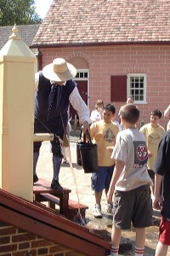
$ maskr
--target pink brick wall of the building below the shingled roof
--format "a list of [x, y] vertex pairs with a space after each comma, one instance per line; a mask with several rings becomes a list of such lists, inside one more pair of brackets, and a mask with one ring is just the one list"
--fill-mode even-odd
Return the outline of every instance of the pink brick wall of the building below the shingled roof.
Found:
[[[111, 102], [111, 75], [146, 73], [146, 104], [138, 105], [140, 120], [150, 122], [150, 112], [161, 112], [170, 102], [170, 46], [168, 45], [115, 45], [96, 47], [72, 47], [42, 49], [42, 67], [56, 57], [67, 61], [75, 58], [86, 60], [89, 68], [89, 108], [94, 109], [96, 100]], [[81, 68], [81, 67], [77, 67]], [[116, 112], [125, 102], [114, 102]], [[117, 118], [117, 117], [116, 117]], [[162, 117], [161, 125], [167, 119]]]

